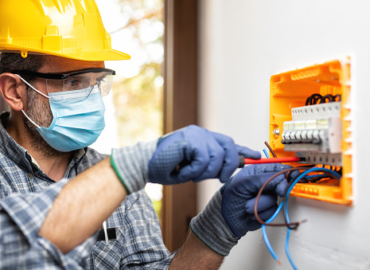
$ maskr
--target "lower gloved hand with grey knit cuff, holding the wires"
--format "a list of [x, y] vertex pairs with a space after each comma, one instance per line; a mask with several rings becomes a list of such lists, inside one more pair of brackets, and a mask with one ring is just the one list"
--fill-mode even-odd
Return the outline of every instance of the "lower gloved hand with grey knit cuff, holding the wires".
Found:
[[[240, 237], [261, 227], [254, 216], [256, 195], [262, 185], [279, 171], [291, 168], [282, 164], [244, 167], [210, 200], [206, 208], [190, 222], [192, 232], [216, 253], [226, 256]], [[258, 213], [269, 219], [277, 209], [277, 195], [283, 196], [288, 185], [285, 175], [272, 180], [258, 203]]]

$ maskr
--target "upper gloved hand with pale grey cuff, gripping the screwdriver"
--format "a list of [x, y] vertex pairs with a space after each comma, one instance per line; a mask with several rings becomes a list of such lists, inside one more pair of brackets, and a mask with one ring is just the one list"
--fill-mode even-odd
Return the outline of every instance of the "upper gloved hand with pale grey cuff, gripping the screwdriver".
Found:
[[209, 178], [226, 182], [238, 168], [239, 155], [261, 158], [259, 152], [234, 144], [230, 137], [193, 125], [158, 142], [113, 149], [111, 164], [130, 194], [147, 182], [173, 185]]

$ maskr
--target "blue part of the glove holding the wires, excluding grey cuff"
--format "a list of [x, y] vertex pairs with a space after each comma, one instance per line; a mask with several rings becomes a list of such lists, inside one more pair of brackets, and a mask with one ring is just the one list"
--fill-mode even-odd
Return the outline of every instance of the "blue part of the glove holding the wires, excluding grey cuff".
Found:
[[[221, 188], [221, 213], [236, 237], [242, 237], [248, 231], [261, 227], [254, 216], [257, 193], [271, 176], [288, 168], [291, 166], [282, 164], [247, 166]], [[275, 213], [277, 195], [284, 196], [287, 185], [284, 174], [275, 177], [267, 185], [258, 202], [258, 214], [261, 219], [267, 220]]]

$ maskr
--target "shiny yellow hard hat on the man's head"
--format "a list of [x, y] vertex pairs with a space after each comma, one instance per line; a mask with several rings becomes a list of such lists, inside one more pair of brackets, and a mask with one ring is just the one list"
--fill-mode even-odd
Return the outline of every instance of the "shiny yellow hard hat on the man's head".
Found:
[[84, 61], [131, 58], [112, 49], [94, 0], [0, 0], [0, 51]]

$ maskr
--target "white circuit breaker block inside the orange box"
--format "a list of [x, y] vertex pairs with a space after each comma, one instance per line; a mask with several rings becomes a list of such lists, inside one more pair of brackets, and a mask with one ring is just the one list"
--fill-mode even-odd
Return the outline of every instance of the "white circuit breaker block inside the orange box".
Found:
[[342, 166], [341, 102], [292, 109], [292, 121], [283, 123], [281, 143], [309, 164]]

